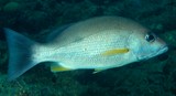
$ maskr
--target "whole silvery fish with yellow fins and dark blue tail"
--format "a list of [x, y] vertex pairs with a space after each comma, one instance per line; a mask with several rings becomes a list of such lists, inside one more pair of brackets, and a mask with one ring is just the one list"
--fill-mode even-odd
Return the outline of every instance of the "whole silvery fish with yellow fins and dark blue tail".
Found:
[[4, 28], [9, 49], [8, 79], [51, 62], [51, 71], [95, 70], [99, 73], [157, 56], [167, 44], [134, 20], [102, 15], [58, 26], [45, 43]]

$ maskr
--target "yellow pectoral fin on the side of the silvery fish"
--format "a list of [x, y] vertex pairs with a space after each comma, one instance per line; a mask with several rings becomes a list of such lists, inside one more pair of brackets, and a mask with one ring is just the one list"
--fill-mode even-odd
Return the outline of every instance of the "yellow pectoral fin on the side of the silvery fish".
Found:
[[114, 50], [109, 50], [102, 53], [102, 55], [116, 55], [116, 54], [122, 54], [122, 53], [128, 53], [129, 49], [114, 49]]

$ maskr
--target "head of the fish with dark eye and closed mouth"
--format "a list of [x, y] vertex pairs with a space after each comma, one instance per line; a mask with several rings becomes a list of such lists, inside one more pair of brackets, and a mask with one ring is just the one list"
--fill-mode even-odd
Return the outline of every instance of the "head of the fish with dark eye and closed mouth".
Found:
[[168, 50], [167, 44], [150, 30], [133, 32], [128, 42], [138, 61], [154, 57]]

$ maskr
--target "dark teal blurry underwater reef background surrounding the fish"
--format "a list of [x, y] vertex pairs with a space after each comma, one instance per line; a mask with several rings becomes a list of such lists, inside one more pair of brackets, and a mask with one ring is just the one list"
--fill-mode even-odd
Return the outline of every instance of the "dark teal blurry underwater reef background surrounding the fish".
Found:
[[38, 64], [7, 81], [8, 47], [0, 31], [0, 96], [176, 96], [176, 0], [0, 0], [0, 28], [44, 42], [54, 26], [99, 15], [135, 20], [167, 42], [147, 61], [92, 74], [52, 73]]

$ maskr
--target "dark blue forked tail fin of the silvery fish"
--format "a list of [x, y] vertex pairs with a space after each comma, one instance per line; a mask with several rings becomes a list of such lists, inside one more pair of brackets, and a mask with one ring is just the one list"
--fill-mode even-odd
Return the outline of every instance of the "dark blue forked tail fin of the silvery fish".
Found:
[[9, 47], [8, 77], [13, 81], [36, 65], [32, 58], [32, 47], [36, 43], [10, 29], [4, 32]]

